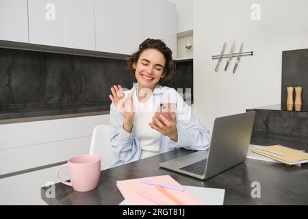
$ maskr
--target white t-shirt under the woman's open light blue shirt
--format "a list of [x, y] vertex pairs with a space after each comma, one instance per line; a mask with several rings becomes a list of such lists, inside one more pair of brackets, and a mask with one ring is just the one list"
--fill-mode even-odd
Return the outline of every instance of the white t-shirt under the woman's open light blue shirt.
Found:
[[139, 138], [142, 149], [141, 158], [150, 157], [159, 153], [159, 144], [162, 134], [155, 129], [152, 129], [149, 123], [152, 122], [152, 117], [155, 114], [156, 105], [153, 103], [153, 94], [145, 103], [140, 103], [137, 96], [137, 90], [133, 94], [133, 105], [135, 115], [133, 117], [133, 127], [135, 127], [136, 135]]

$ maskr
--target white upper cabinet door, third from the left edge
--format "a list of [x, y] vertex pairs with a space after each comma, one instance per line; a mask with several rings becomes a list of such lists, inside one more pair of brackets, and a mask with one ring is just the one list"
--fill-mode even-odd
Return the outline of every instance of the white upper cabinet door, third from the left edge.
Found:
[[141, 43], [141, 0], [95, 0], [97, 51], [131, 54]]

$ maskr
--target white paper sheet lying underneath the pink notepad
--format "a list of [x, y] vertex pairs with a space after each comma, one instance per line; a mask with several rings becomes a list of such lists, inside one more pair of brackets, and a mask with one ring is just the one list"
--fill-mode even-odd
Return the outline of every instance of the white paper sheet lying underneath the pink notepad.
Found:
[[[183, 186], [191, 194], [196, 196], [204, 205], [223, 205], [224, 204], [224, 189], [203, 188], [196, 186]], [[119, 205], [127, 205], [123, 200]]]

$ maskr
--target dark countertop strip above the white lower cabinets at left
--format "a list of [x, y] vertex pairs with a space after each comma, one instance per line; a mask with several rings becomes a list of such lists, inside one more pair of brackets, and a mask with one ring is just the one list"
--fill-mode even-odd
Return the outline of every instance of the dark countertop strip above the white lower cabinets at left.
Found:
[[0, 120], [14, 118], [30, 118], [38, 116], [55, 116], [64, 114], [81, 114], [88, 112], [110, 111], [111, 101], [87, 104], [66, 104], [66, 105], [27, 105], [16, 107], [2, 107], [0, 109]]

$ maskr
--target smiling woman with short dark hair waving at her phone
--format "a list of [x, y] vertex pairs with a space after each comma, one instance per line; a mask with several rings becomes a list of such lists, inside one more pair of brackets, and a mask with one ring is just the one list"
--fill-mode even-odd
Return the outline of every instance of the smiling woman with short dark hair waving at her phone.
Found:
[[[128, 66], [138, 83], [131, 90], [124, 91], [120, 85], [111, 88], [110, 141], [118, 157], [111, 166], [179, 147], [207, 149], [209, 131], [175, 89], [159, 85], [171, 79], [174, 70], [172, 51], [166, 44], [144, 40], [138, 51], [129, 55]], [[157, 118], [155, 112], [160, 112], [162, 105], [176, 107], [167, 107], [166, 116]]]

